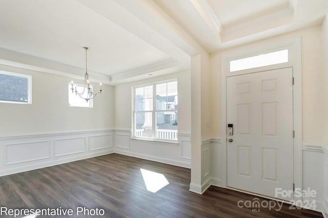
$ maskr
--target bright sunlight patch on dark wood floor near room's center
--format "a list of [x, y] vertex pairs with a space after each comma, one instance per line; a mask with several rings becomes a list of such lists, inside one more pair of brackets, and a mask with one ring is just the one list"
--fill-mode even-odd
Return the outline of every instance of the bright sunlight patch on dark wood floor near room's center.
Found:
[[145, 169], [140, 169], [140, 171], [148, 191], [155, 193], [170, 184], [163, 174]]

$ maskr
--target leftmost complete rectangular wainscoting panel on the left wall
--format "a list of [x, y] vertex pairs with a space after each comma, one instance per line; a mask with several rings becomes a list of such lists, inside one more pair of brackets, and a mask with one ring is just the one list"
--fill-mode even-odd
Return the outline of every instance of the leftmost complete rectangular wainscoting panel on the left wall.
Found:
[[6, 144], [6, 165], [50, 158], [50, 141]]

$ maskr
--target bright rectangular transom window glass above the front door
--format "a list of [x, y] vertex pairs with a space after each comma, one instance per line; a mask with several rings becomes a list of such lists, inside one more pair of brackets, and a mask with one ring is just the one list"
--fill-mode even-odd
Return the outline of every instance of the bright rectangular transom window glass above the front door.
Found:
[[288, 62], [288, 49], [241, 58], [230, 62], [230, 72]]

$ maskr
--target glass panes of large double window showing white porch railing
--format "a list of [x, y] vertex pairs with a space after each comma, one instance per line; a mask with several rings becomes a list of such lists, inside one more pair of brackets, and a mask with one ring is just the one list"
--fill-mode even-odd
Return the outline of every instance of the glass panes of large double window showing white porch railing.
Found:
[[167, 81], [134, 87], [134, 137], [178, 139], [178, 85]]

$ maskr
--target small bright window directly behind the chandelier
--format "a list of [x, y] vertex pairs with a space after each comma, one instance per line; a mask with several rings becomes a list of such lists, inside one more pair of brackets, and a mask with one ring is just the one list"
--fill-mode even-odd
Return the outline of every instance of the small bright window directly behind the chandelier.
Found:
[[[70, 107], [93, 107], [93, 99], [90, 99], [88, 102], [81, 98], [78, 94], [75, 94], [75, 87], [78, 93], [83, 92], [84, 85], [74, 84], [74, 92], [72, 93], [72, 83], [68, 84], [68, 105]], [[92, 91], [92, 87], [91, 87]], [[88, 97], [87, 91], [82, 95], [83, 97]]]

